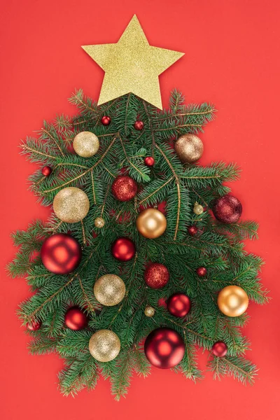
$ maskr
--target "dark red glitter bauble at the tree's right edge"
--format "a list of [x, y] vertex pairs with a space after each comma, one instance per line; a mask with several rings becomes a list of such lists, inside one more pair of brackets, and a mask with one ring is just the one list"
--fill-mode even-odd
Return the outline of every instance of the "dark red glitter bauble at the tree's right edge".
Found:
[[236, 223], [242, 213], [241, 202], [233, 195], [217, 198], [212, 206], [214, 216], [223, 223]]

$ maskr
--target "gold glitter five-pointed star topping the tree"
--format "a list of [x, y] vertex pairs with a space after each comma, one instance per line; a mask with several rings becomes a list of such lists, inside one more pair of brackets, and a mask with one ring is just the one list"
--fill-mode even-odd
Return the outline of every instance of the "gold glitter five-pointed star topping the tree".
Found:
[[82, 48], [105, 71], [99, 105], [132, 92], [162, 109], [158, 76], [183, 55], [149, 45], [136, 15], [118, 43]]

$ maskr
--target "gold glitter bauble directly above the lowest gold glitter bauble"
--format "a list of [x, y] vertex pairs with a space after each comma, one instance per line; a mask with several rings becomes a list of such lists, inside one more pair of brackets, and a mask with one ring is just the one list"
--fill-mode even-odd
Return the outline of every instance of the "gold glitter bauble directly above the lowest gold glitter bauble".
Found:
[[99, 303], [114, 306], [125, 297], [125, 283], [116, 274], [105, 274], [95, 282], [93, 293]]

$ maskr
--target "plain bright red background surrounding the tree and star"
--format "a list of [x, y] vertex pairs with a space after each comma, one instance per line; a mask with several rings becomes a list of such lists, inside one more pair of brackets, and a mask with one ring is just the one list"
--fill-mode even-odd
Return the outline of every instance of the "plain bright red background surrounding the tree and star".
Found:
[[[1, 3], [1, 419], [279, 419], [279, 1]], [[56, 386], [62, 360], [30, 356], [15, 316], [29, 290], [24, 279], [8, 279], [4, 271], [15, 252], [8, 235], [50, 212], [27, 192], [35, 165], [18, 154], [20, 138], [43, 119], [73, 113], [66, 98], [74, 88], [97, 99], [103, 72], [80, 45], [118, 41], [134, 13], [151, 45], [186, 52], [160, 77], [164, 104], [177, 87], [188, 102], [213, 102], [218, 109], [202, 135], [201, 163], [233, 161], [243, 169], [233, 192], [243, 217], [260, 223], [260, 240], [246, 247], [266, 260], [262, 279], [272, 296], [269, 304], [248, 309], [248, 358], [260, 368], [254, 386], [213, 381], [210, 373], [193, 384], [153, 368], [147, 379], [134, 377], [120, 402], [103, 379], [96, 391], [64, 398]], [[200, 353], [202, 369], [206, 362], [207, 353]]]

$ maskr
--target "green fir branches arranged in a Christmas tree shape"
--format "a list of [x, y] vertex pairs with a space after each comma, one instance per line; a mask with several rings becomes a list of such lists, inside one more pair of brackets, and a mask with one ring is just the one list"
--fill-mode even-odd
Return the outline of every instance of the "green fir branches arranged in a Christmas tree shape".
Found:
[[[57, 351], [65, 360], [59, 374], [59, 386], [65, 395], [80, 389], [92, 389], [100, 374], [111, 381], [112, 393], [119, 399], [127, 393], [133, 372], [146, 376], [149, 363], [143, 340], [159, 326], [174, 328], [186, 343], [182, 362], [174, 370], [194, 381], [202, 377], [197, 369], [195, 346], [211, 350], [218, 340], [228, 345], [228, 355], [211, 358], [209, 369], [215, 377], [230, 374], [242, 382], [252, 382], [255, 366], [243, 358], [248, 349], [242, 335], [246, 314], [228, 318], [216, 304], [218, 291], [229, 284], [241, 286], [251, 300], [267, 301], [258, 272], [260, 258], [244, 251], [243, 239], [257, 237], [258, 225], [240, 221], [233, 225], [217, 223], [208, 211], [214, 198], [228, 193], [225, 181], [235, 181], [239, 169], [223, 162], [209, 167], [182, 165], [173, 150], [173, 141], [185, 133], [201, 132], [214, 118], [211, 104], [184, 105], [179, 92], [172, 92], [170, 109], [158, 112], [133, 94], [97, 106], [78, 91], [70, 99], [80, 114], [74, 118], [58, 116], [53, 124], [43, 123], [38, 139], [22, 142], [22, 153], [39, 165], [50, 165], [52, 174], [45, 177], [41, 167], [33, 174], [30, 188], [42, 204], [52, 203], [66, 186], [82, 188], [90, 199], [90, 211], [82, 223], [66, 224], [54, 214], [48, 224], [29, 225], [26, 232], [15, 232], [13, 239], [20, 249], [8, 269], [15, 276], [27, 275], [34, 293], [22, 302], [19, 316], [25, 325], [42, 321], [41, 329], [30, 332], [31, 353]], [[104, 127], [101, 118], [111, 116], [111, 125]], [[141, 119], [144, 130], [134, 129]], [[73, 154], [71, 146], [78, 132], [92, 131], [99, 137], [100, 148], [92, 158]], [[155, 166], [144, 165], [144, 158], [153, 155]], [[118, 174], [130, 174], [139, 183], [139, 193], [132, 202], [117, 202], [111, 184]], [[166, 202], [167, 231], [162, 237], [149, 240], [135, 228], [139, 207], [157, 206]], [[204, 206], [204, 213], [193, 213], [193, 204]], [[113, 211], [112, 211], [113, 210]], [[102, 216], [105, 226], [94, 227], [94, 219]], [[196, 225], [195, 237], [188, 235], [188, 226]], [[54, 232], [68, 232], [83, 246], [83, 259], [75, 272], [57, 276], [43, 267], [38, 252], [45, 237]], [[121, 263], [111, 255], [112, 242], [121, 236], [130, 237], [137, 248], [135, 258]], [[167, 286], [153, 290], [144, 283], [148, 261], [162, 262], [171, 274]], [[207, 267], [207, 277], [197, 276], [197, 267]], [[115, 307], [101, 308], [93, 295], [94, 282], [106, 273], [119, 274], [127, 293]], [[184, 291], [192, 302], [186, 318], [174, 318], [158, 306], [161, 297]], [[89, 316], [85, 330], [71, 331], [64, 325], [64, 314], [71, 304], [83, 307]], [[147, 318], [147, 305], [155, 308], [155, 316]], [[97, 309], [102, 309], [97, 311]], [[120, 337], [121, 351], [109, 363], [97, 363], [88, 350], [95, 330], [112, 329]]]

